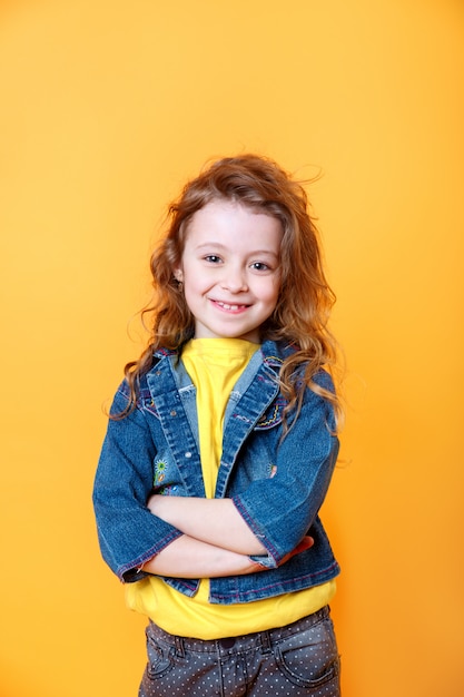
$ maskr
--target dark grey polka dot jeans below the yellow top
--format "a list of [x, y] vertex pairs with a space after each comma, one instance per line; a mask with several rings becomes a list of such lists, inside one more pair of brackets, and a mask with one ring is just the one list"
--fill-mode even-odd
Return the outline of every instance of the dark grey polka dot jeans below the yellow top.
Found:
[[147, 627], [139, 697], [339, 697], [328, 607], [280, 629], [205, 641]]

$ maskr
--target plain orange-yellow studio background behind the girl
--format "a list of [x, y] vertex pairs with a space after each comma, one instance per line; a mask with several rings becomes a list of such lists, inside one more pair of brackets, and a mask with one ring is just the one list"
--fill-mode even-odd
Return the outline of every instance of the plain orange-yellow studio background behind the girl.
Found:
[[463, 2], [18, 0], [0, 60], [0, 694], [137, 694], [145, 620], [90, 504], [101, 404], [166, 204], [257, 150], [323, 174], [344, 697], [461, 697]]

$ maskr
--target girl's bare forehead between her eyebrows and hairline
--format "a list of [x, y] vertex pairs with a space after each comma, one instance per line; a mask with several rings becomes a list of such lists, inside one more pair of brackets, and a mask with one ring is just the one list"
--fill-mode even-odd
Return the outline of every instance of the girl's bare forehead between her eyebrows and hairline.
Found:
[[280, 220], [263, 209], [233, 200], [213, 200], [192, 215], [186, 244], [223, 244], [231, 248], [259, 245], [259, 248], [276, 253], [283, 233]]

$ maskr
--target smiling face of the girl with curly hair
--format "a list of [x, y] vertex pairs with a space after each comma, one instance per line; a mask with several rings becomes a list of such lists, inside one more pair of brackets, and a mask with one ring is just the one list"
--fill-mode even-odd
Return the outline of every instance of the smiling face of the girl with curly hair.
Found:
[[273, 314], [280, 288], [283, 228], [238, 203], [214, 200], [192, 216], [181, 264], [196, 338], [246, 338]]

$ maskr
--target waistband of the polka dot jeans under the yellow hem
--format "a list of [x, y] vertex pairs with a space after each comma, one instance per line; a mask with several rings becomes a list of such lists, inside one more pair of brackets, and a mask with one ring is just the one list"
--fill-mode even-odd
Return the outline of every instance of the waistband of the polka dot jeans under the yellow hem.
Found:
[[171, 646], [176, 649], [177, 654], [184, 654], [185, 650], [194, 651], [194, 652], [224, 652], [229, 649], [245, 650], [249, 648], [254, 648], [256, 646], [260, 646], [264, 649], [270, 648], [272, 644], [275, 644], [279, 640], [286, 639], [294, 634], [299, 634], [300, 631], [305, 631], [313, 627], [317, 622], [326, 619], [330, 615], [330, 609], [328, 606], [320, 608], [316, 612], [312, 615], [307, 615], [306, 617], [302, 617], [302, 619], [292, 622], [290, 625], [286, 625], [285, 627], [276, 627], [273, 629], [266, 629], [264, 631], [256, 631], [248, 635], [241, 635], [237, 637], [225, 637], [223, 639], [195, 639], [190, 637], [178, 637], [176, 635], [171, 635], [168, 631], [165, 631], [158, 625], [155, 625], [150, 620], [150, 624], [147, 628], [149, 635], [151, 635], [155, 639], [159, 641], [164, 641], [168, 646]]

